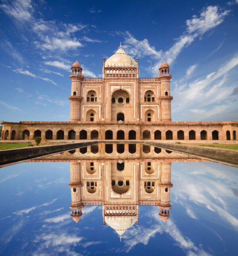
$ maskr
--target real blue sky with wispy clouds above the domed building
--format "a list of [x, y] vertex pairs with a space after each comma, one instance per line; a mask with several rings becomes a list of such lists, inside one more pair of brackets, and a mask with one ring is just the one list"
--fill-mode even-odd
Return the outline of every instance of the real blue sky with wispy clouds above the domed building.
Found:
[[140, 77], [171, 67], [172, 121], [238, 119], [238, 1], [0, 2], [0, 119], [68, 121], [70, 67], [102, 76], [120, 42]]

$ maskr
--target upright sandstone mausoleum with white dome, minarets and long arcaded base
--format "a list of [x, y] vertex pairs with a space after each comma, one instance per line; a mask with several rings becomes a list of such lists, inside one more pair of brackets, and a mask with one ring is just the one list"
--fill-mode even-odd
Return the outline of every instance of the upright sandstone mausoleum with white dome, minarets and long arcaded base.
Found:
[[[48, 140], [110, 139], [107, 133], [116, 140], [118, 131], [124, 131], [124, 137], [119, 137], [125, 140], [237, 140], [238, 121], [171, 121], [172, 76], [166, 62], [157, 77], [139, 78], [138, 59], [135, 61], [120, 46], [110, 58], [103, 59], [102, 78], [84, 77], [77, 61], [71, 69], [70, 121], [1, 121], [2, 140], [33, 140], [36, 136]], [[98, 137], [92, 137], [92, 131], [97, 131]], [[144, 131], [150, 135], [144, 137]], [[113, 154], [115, 146], [111, 146]], [[129, 152], [128, 147], [125, 145], [120, 154]], [[136, 152], [139, 148], [136, 146]], [[147, 149], [146, 154], [149, 152]]]

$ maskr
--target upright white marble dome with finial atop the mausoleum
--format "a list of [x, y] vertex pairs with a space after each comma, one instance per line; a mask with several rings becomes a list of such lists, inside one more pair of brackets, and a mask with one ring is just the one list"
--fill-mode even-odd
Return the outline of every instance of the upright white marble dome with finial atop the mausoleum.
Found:
[[105, 67], [136, 67], [136, 62], [120, 45], [115, 54], [106, 60]]

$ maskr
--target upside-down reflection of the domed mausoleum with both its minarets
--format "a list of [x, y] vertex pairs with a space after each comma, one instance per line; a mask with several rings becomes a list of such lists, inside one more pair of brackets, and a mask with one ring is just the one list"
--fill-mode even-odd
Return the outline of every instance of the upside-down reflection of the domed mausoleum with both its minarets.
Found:
[[163, 221], [169, 218], [169, 160], [78, 160], [70, 162], [71, 216], [78, 222], [84, 206], [102, 205], [103, 225], [121, 237], [136, 223], [139, 205], [154, 205]]

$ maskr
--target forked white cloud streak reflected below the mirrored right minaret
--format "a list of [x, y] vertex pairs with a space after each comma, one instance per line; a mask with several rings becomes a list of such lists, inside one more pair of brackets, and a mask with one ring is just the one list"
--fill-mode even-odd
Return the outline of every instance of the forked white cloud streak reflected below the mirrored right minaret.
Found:
[[169, 219], [166, 223], [161, 221], [157, 208], [154, 208], [149, 213], [150, 218], [153, 218], [153, 224], [150, 228], [146, 228], [143, 226], [132, 227], [127, 230], [127, 232], [123, 235], [123, 241], [126, 245], [126, 252], [129, 252], [136, 244], [143, 243], [148, 244], [150, 238], [154, 237], [156, 233], [168, 233], [176, 242], [176, 244], [184, 250], [184, 252], [188, 255], [196, 255], [196, 256], [208, 256], [207, 252], [205, 252], [202, 248], [198, 248], [194, 245], [194, 243], [188, 238], [182, 235], [179, 231], [175, 223], [171, 219]]

